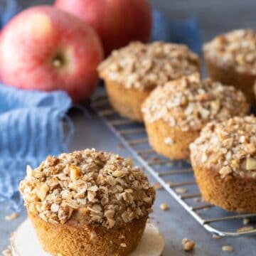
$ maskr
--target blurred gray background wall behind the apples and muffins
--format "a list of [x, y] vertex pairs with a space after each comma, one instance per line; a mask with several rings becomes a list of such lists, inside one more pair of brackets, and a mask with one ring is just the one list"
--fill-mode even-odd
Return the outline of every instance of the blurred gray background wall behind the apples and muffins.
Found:
[[[3, 2], [5, 0], [0, 0]], [[7, 0], [8, 1], [8, 0]], [[17, 0], [22, 6], [50, 4], [52, 0]], [[95, 0], [97, 1], [97, 0]], [[255, 0], [150, 0], [151, 4], [176, 21], [196, 17], [203, 40], [233, 28], [256, 28]]]

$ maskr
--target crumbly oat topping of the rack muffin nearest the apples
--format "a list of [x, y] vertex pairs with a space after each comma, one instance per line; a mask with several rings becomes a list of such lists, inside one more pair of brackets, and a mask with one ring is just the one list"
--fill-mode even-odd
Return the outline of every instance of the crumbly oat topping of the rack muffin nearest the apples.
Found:
[[134, 42], [114, 50], [98, 71], [101, 78], [119, 82], [127, 89], [151, 90], [198, 69], [198, 56], [184, 45]]

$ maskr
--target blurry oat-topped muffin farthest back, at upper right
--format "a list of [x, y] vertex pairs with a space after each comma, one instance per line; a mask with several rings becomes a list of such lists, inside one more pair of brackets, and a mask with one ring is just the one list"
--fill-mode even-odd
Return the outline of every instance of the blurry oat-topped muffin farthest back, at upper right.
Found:
[[256, 33], [250, 29], [230, 31], [217, 36], [203, 47], [210, 78], [234, 85], [255, 104]]

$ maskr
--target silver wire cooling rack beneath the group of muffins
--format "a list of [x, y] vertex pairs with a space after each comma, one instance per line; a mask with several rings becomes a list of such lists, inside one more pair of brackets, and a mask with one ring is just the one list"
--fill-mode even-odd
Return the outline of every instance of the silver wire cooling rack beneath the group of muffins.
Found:
[[[256, 234], [256, 214], [230, 213], [202, 201], [188, 161], [171, 161], [149, 146], [143, 124], [120, 117], [107, 95], [92, 101], [94, 110], [146, 171], [210, 233], [238, 237]], [[243, 225], [249, 223], [247, 225]]]

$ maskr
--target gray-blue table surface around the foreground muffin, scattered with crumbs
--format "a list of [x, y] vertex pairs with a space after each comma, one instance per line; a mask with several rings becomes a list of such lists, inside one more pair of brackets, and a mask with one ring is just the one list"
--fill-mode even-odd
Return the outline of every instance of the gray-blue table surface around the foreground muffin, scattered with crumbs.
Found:
[[[84, 117], [82, 114], [73, 114], [72, 118], [75, 123], [75, 137], [71, 151], [94, 147], [99, 150], [113, 151], [122, 156], [130, 156], [126, 149], [119, 149], [117, 146], [119, 140], [114, 137], [102, 120], [94, 114], [90, 117]], [[152, 182], [154, 181], [151, 176], [149, 178]], [[170, 206], [170, 210], [160, 210], [160, 203], [167, 203]], [[4, 206], [1, 206], [0, 251], [9, 244], [11, 232], [26, 218], [26, 211], [22, 210], [16, 220], [7, 221], [4, 217], [9, 213]], [[256, 255], [255, 238], [213, 239], [212, 235], [196, 223], [196, 220], [191, 215], [188, 215], [164, 190], [157, 191], [154, 213], [151, 216], [166, 240], [164, 256], [187, 255], [181, 247], [183, 238], [191, 238], [196, 242], [196, 248], [189, 253], [190, 255], [226, 255], [228, 252], [222, 252], [221, 249], [223, 245], [232, 245], [234, 247], [234, 252], [229, 252], [232, 255]]]

